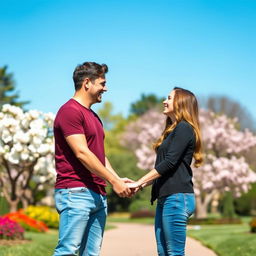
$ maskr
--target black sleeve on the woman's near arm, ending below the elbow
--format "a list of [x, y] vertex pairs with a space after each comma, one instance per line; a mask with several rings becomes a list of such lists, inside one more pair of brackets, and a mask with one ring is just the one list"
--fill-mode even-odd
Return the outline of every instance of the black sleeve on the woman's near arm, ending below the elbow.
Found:
[[180, 122], [168, 135], [171, 139], [165, 159], [155, 166], [159, 174], [164, 175], [177, 168], [193, 135], [193, 128], [185, 122]]

